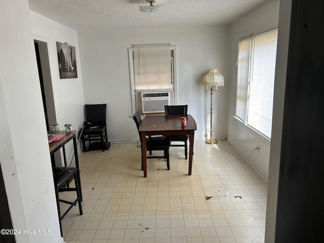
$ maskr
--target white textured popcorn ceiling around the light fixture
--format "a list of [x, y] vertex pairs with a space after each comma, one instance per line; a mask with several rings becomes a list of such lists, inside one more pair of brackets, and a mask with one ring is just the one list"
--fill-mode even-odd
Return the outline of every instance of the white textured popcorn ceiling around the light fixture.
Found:
[[29, 0], [31, 11], [77, 31], [229, 24], [268, 0], [156, 0], [159, 12], [143, 13], [146, 0]]

